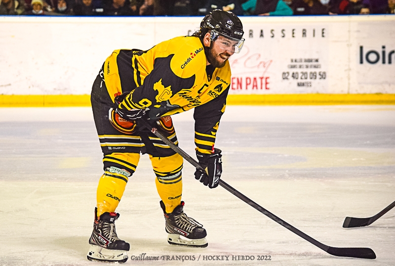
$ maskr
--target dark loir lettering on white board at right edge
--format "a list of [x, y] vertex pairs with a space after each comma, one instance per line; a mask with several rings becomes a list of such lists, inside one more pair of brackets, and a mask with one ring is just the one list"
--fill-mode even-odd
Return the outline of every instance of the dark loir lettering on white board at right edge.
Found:
[[373, 49], [367, 50], [363, 45], [359, 46], [359, 64], [367, 62], [374, 65], [381, 62], [383, 65], [391, 65], [393, 61], [395, 62], [395, 50], [387, 50], [385, 45], [381, 46], [381, 52]]

